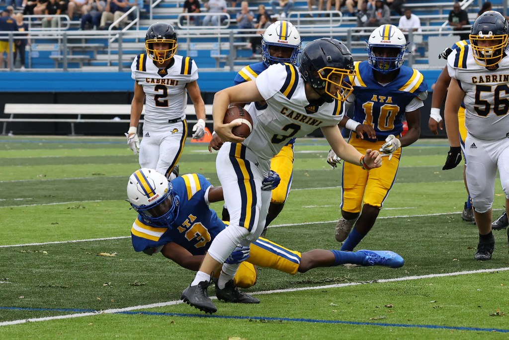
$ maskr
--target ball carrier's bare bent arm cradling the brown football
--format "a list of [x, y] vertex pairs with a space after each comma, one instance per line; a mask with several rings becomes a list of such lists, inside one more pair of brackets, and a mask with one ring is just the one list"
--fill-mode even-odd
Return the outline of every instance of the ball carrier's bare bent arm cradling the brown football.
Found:
[[232, 129], [241, 125], [241, 122], [223, 124], [224, 114], [230, 103], [250, 103], [261, 100], [264, 100], [264, 98], [254, 81], [248, 81], [216, 92], [212, 105], [214, 132], [225, 142], [241, 143], [244, 138], [237, 137], [232, 133]]

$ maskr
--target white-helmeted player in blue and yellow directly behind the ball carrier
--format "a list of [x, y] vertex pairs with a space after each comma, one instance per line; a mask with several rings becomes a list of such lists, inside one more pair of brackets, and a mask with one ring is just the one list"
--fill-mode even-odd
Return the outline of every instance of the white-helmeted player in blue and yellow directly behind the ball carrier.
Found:
[[[235, 85], [255, 80], [260, 73], [273, 64], [290, 63], [296, 65], [300, 46], [299, 31], [291, 22], [280, 20], [272, 23], [267, 27], [262, 38], [263, 61], [261, 63], [248, 65], [240, 70], [235, 76]], [[234, 105], [244, 106], [245, 103], [235, 103]], [[265, 101], [258, 102], [257, 105], [263, 107]], [[213, 136], [209, 144], [209, 151], [211, 148], [219, 150], [222, 145], [221, 139], [217, 137], [216, 134], [213, 134]], [[265, 237], [267, 226], [277, 217], [279, 212], [281, 212], [285, 206], [288, 194], [290, 194], [293, 175], [294, 143], [295, 138], [292, 138], [270, 161], [270, 169], [279, 175], [281, 182], [279, 186], [272, 191], [269, 212], [267, 213], [265, 228], [261, 236]], [[228, 216], [227, 214], [228, 211], [223, 210], [223, 220], [229, 220], [229, 218], [225, 219]]]

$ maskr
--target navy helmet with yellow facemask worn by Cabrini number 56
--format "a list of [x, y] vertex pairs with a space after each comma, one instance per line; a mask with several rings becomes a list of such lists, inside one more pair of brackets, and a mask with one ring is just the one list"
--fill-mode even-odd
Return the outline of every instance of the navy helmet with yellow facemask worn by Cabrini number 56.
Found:
[[488, 11], [475, 19], [470, 32], [470, 44], [477, 64], [497, 65], [507, 48], [507, 20], [496, 11]]

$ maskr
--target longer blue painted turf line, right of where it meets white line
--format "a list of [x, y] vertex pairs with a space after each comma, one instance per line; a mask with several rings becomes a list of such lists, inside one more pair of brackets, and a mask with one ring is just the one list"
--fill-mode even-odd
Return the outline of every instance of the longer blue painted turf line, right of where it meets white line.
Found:
[[294, 321], [294, 322], [343, 324], [343, 325], [356, 325], [356, 326], [429, 328], [429, 329], [469, 330], [469, 331], [509, 333], [509, 329], [502, 329], [502, 328], [480, 328], [480, 327], [460, 327], [460, 326], [455, 327], [455, 326], [441, 326], [441, 325], [411, 325], [411, 324], [399, 324], [399, 323], [390, 324], [390, 323], [379, 323], [379, 322], [356, 322], [356, 321], [321, 320], [321, 319], [243, 317], [243, 316], [227, 316], [227, 315], [207, 315], [207, 314], [156, 313], [156, 312], [144, 312], [144, 311], [139, 311], [139, 312], [126, 311], [126, 312], [119, 312], [116, 314], [143, 314], [143, 315], [170, 316], [170, 317], [197, 317], [197, 318], [237, 319], [237, 320]]

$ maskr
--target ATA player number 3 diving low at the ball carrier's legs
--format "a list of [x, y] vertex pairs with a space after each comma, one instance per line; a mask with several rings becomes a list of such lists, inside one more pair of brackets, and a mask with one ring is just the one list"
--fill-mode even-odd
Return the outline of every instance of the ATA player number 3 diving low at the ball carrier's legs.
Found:
[[[264, 183], [262, 187], [263, 190], [272, 188], [270, 183]], [[131, 228], [134, 250], [148, 255], [160, 252], [186, 269], [199, 269], [211, 241], [226, 228], [215, 211], [209, 208], [210, 203], [223, 200], [222, 188], [213, 187], [201, 174], [186, 174], [168, 182], [155, 170], [139, 169], [129, 177], [127, 197], [138, 212]], [[256, 283], [257, 272], [253, 264], [292, 275], [343, 263], [392, 268], [404, 264], [401, 256], [390, 251], [353, 253], [315, 249], [300, 253], [264, 238], [249, 247], [237, 247], [226, 261], [240, 263], [239, 270], [223, 289], [216, 285], [216, 296], [237, 303], [260, 302], [237, 288], [249, 288]]]

